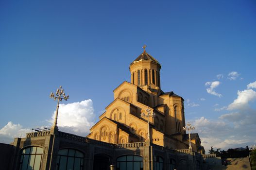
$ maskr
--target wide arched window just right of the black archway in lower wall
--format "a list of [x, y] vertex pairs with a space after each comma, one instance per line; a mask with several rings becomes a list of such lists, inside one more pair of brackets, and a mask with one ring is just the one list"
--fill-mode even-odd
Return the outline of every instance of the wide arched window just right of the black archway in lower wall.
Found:
[[143, 158], [137, 155], [125, 155], [117, 158], [117, 170], [143, 170]]

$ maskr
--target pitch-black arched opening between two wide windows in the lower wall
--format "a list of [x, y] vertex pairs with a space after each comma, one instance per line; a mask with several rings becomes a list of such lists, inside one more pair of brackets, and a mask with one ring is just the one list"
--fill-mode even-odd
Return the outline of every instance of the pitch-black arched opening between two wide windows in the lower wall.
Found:
[[95, 154], [93, 170], [109, 170], [111, 157], [107, 154]]

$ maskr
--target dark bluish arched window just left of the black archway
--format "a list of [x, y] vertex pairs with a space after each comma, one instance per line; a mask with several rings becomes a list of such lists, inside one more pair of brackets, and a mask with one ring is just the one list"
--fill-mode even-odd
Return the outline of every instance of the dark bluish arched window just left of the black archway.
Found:
[[56, 170], [83, 170], [84, 154], [73, 149], [59, 150]]

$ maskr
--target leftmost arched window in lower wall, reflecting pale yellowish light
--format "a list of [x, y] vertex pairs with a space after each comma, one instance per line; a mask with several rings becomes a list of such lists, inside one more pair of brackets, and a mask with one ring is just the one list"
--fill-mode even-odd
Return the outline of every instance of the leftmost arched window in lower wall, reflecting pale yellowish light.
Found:
[[43, 148], [29, 147], [21, 152], [19, 170], [40, 170]]

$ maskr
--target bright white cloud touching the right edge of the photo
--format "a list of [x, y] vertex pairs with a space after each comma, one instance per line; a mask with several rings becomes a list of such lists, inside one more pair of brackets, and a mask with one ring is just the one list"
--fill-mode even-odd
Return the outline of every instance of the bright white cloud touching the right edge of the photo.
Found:
[[244, 109], [248, 107], [249, 102], [256, 99], [256, 91], [247, 89], [243, 91], [238, 90], [238, 98], [228, 105], [228, 110]]

